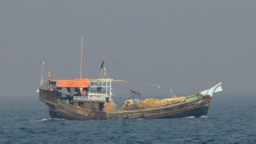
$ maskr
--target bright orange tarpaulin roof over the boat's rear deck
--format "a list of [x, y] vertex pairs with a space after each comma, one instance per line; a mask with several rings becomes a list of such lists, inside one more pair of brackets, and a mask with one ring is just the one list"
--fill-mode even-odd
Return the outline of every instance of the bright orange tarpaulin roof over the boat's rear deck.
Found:
[[77, 78], [72, 80], [56, 80], [57, 87], [89, 87], [90, 79]]

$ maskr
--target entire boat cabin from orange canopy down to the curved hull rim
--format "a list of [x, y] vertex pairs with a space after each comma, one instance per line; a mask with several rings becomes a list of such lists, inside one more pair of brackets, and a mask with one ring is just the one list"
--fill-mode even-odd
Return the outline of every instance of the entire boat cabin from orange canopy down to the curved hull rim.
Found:
[[77, 78], [73, 80], [49, 80], [48, 89], [57, 90], [62, 101], [90, 110], [102, 110], [106, 99], [112, 100], [110, 78]]

